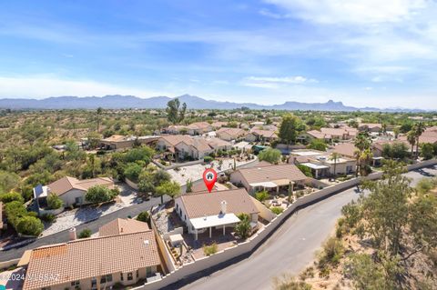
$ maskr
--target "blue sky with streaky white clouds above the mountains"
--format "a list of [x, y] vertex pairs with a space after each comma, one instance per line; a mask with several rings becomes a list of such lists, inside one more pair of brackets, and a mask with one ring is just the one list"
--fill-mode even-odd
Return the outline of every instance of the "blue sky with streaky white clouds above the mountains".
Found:
[[425, 0], [4, 1], [0, 97], [437, 109]]

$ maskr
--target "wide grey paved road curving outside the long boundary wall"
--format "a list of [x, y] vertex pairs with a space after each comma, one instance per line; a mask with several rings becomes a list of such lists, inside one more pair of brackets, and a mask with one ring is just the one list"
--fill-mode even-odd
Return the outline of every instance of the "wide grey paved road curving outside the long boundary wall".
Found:
[[[427, 168], [407, 175], [412, 178], [412, 185], [415, 185], [423, 177], [437, 175], [436, 169]], [[312, 263], [315, 251], [333, 231], [340, 217], [341, 207], [357, 197], [355, 188], [352, 188], [303, 208], [296, 215], [290, 216], [269, 240], [248, 258], [190, 284], [181, 281], [180, 285], [171, 285], [168, 288], [270, 289], [272, 277], [285, 272], [297, 275], [305, 266]]]

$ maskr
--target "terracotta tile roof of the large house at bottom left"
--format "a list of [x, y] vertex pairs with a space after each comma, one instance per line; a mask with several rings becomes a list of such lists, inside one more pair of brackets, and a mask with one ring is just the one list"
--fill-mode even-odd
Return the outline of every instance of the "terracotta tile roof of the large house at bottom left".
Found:
[[160, 265], [158, 246], [151, 230], [127, 235], [86, 238], [49, 245], [32, 251], [27, 276], [41, 274], [53, 279], [25, 279], [24, 290], [59, 285], [99, 275], [135, 272]]

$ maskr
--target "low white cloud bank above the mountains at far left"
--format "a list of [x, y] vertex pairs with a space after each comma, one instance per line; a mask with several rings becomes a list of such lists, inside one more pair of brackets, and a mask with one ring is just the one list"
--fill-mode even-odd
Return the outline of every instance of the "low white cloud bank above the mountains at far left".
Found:
[[58, 95], [170, 95], [90, 80], [66, 80], [53, 75], [0, 76], [0, 97], [43, 98]]

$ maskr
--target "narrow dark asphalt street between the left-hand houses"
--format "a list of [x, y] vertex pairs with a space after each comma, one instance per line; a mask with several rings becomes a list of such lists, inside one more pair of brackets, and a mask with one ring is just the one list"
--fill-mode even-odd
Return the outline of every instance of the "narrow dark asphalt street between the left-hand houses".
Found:
[[[164, 197], [165, 197], [164, 201], [169, 200], [169, 197], [167, 195], [165, 195]], [[160, 197], [152, 197], [149, 201], [143, 202], [142, 204], [136, 204], [136, 205], [124, 207], [120, 210], [117, 210], [117, 212], [104, 215], [95, 221], [91, 221], [82, 225], [77, 225], [76, 232], [80, 233], [80, 231], [82, 231], [83, 229], [89, 228], [93, 233], [96, 233], [100, 226], [105, 225], [118, 217], [127, 218], [128, 215], [130, 216], [138, 215], [139, 213], [145, 210], [149, 210], [152, 206], [158, 205], [160, 202], [161, 202]], [[68, 230], [53, 235], [48, 235], [46, 237], [37, 239], [35, 242], [31, 244], [13, 248], [7, 251], [0, 251], [0, 261], [3, 262], [3, 261], [19, 258], [21, 257], [21, 255], [23, 255], [25, 250], [33, 249], [38, 246], [64, 243], [67, 241], [68, 241]]]

